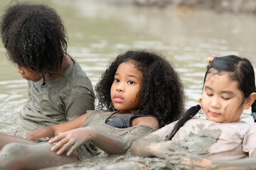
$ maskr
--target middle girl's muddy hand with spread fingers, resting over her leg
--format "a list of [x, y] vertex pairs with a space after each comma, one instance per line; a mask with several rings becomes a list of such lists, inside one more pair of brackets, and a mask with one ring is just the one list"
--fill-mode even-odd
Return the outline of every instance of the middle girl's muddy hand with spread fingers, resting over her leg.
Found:
[[67, 156], [70, 156], [75, 149], [78, 149], [81, 145], [90, 141], [94, 134], [90, 128], [78, 128], [74, 130], [68, 130], [67, 132], [59, 133], [57, 136], [49, 140], [49, 143], [58, 142], [56, 145], [51, 147], [51, 151], [56, 152], [56, 154], [62, 154], [65, 150], [71, 149], [68, 151]]

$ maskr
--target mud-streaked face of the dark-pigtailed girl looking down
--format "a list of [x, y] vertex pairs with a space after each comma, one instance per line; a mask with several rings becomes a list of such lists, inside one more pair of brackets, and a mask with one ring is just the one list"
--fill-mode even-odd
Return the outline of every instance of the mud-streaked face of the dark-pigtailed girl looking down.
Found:
[[203, 86], [202, 108], [208, 120], [231, 123], [240, 120], [245, 100], [238, 89], [238, 81], [230, 79], [227, 72], [217, 74], [213, 69]]

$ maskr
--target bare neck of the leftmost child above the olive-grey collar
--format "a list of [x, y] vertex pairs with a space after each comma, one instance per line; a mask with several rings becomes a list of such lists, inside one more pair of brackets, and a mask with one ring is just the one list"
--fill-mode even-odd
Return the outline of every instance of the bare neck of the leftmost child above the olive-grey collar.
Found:
[[64, 55], [63, 62], [61, 62], [61, 67], [58, 69], [57, 74], [53, 76], [52, 74], [46, 73], [43, 76], [43, 84], [50, 83], [50, 81], [53, 81], [53, 79], [61, 77], [63, 75], [63, 72], [65, 72], [71, 62], [73, 62], [73, 60], [68, 55]]

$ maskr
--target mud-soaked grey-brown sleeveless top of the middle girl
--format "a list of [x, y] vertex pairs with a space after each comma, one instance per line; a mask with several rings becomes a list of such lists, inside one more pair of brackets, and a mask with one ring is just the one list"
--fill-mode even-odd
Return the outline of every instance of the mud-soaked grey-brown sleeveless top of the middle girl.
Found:
[[[120, 137], [127, 142], [128, 147], [130, 147], [132, 142], [135, 140], [156, 130], [148, 125], [135, 125], [130, 128], [114, 128], [105, 123], [107, 118], [110, 118], [114, 113], [117, 112], [102, 110], [87, 111], [86, 122], [81, 126], [81, 128], [90, 126], [107, 135]], [[87, 142], [85, 145], [79, 147], [78, 151], [80, 160], [85, 160], [103, 152], [101, 149], [95, 147], [92, 142]]]

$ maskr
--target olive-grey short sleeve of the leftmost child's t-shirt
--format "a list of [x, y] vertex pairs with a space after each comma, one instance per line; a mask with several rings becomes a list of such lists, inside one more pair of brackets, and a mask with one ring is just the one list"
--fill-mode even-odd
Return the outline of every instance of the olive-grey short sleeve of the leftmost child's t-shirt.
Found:
[[65, 116], [67, 120], [73, 120], [85, 114], [87, 110], [95, 109], [95, 97], [93, 92], [83, 86], [75, 86], [70, 89], [68, 102], [65, 103]]

